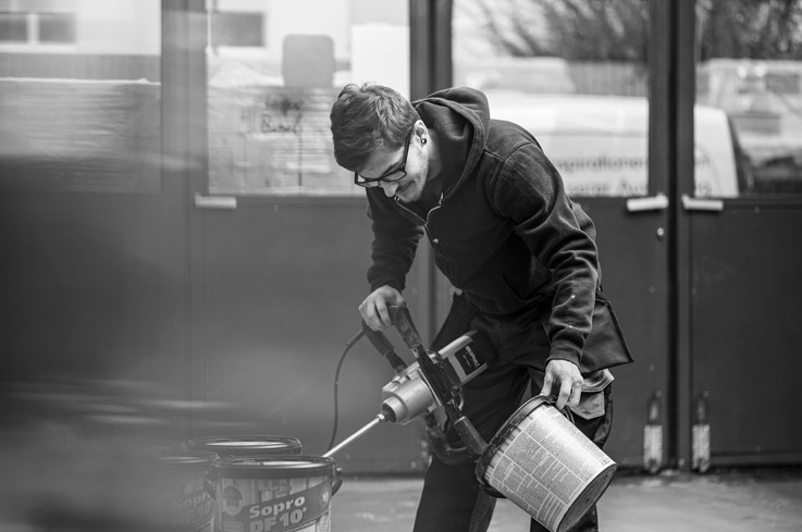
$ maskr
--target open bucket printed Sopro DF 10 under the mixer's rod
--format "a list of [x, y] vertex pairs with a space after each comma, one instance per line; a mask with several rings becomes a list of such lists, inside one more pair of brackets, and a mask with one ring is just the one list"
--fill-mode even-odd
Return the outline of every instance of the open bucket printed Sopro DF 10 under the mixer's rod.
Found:
[[212, 466], [221, 532], [329, 532], [343, 483], [332, 458], [227, 457]]

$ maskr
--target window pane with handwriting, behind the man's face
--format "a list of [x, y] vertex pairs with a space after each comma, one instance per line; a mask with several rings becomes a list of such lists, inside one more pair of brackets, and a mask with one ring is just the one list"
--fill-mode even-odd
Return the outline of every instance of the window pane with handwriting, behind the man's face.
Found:
[[250, 29], [260, 21], [262, 45], [221, 42], [222, 30], [210, 30], [209, 193], [363, 194], [353, 184], [353, 174], [334, 161], [329, 113], [342, 86], [351, 81], [378, 82], [409, 94], [407, 1], [377, 4], [213, 2], [211, 21], [239, 24], [248, 17]]

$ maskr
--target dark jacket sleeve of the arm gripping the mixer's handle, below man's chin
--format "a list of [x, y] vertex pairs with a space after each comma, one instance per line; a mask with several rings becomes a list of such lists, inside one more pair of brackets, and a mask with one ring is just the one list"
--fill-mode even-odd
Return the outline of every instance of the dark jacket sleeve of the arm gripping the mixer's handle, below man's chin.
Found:
[[388, 285], [404, 290], [423, 227], [404, 216], [395, 200], [380, 188], [369, 188], [367, 193], [373, 230], [372, 263], [368, 268], [370, 289]]

